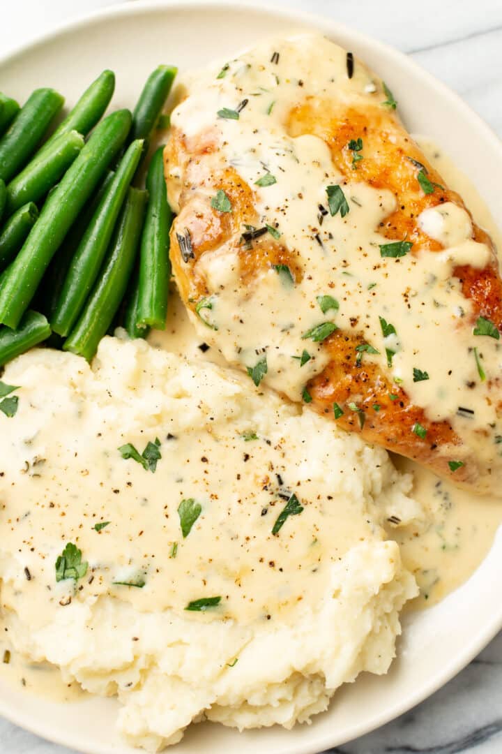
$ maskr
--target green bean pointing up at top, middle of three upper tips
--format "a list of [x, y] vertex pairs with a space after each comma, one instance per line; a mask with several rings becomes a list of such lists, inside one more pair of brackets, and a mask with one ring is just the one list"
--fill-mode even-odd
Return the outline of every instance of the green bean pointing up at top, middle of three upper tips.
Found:
[[96, 81], [93, 81], [90, 87], [84, 91], [75, 107], [68, 112], [64, 121], [59, 124], [53, 135], [44, 144], [43, 149], [46, 149], [47, 145], [52, 143], [58, 136], [61, 136], [62, 133], [68, 133], [68, 131], [75, 130], [86, 136], [110, 104], [114, 89], [114, 72], [103, 71], [96, 78]]

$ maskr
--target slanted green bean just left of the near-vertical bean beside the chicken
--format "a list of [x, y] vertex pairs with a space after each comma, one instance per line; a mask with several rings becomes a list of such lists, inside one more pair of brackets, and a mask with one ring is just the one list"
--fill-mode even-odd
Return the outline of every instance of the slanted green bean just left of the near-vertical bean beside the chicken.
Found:
[[129, 189], [102, 274], [90, 294], [75, 329], [63, 345], [64, 351], [92, 359], [99, 341], [113, 321], [127, 284], [138, 249], [148, 192]]

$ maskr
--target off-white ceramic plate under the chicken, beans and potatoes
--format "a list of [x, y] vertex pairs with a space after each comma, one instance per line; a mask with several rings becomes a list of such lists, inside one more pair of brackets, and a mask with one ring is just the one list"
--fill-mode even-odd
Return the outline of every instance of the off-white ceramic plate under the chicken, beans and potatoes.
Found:
[[[393, 90], [409, 130], [447, 147], [470, 176], [495, 219], [502, 220], [502, 146], [494, 133], [451, 91], [403, 54], [333, 21], [297, 12], [230, 3], [149, 2], [120, 5], [46, 36], [3, 62], [2, 90], [23, 100], [38, 86], [64, 92], [68, 104], [104, 68], [117, 73], [114, 107], [131, 107], [158, 63], [181, 69], [227, 58], [265, 35], [321, 29], [372, 66]], [[473, 500], [473, 504], [476, 501]], [[309, 754], [337, 746], [382, 725], [436, 691], [502, 627], [502, 532], [467, 584], [405, 620], [399, 657], [385, 677], [364, 674], [336, 693], [330, 710], [293, 731], [239, 734], [196, 725], [182, 754]], [[113, 641], [113, 636], [110, 637]], [[93, 699], [62, 705], [13, 691], [0, 682], [0, 713], [41, 736], [89, 754], [131, 754], [114, 732], [117, 703]]]

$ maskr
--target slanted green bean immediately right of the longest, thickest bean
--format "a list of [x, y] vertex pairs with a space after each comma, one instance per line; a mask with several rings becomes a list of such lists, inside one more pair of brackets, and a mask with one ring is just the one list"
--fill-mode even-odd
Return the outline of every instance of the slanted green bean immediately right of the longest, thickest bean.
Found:
[[68, 275], [62, 286], [51, 327], [58, 335], [68, 335], [99, 275], [103, 258], [114, 230], [120, 207], [126, 197], [143, 149], [143, 140], [132, 142], [123, 155], [108, 191], [82, 237], [71, 259]]

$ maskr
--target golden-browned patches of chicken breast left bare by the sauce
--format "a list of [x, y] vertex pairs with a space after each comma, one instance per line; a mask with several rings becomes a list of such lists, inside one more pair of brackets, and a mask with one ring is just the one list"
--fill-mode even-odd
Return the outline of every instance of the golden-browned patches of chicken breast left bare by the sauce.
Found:
[[[286, 53], [281, 51], [281, 54]], [[446, 204], [465, 209], [464, 203], [458, 194], [446, 187], [442, 176], [427, 162], [406, 132], [397, 116], [391, 93], [385, 90], [387, 99], [382, 102], [382, 84], [356, 61], [356, 69], [360, 66], [364, 75], [370, 76], [375, 83], [376, 97], [372, 99], [367, 95], [364, 101], [348, 96], [327, 97], [323, 93], [309, 93], [300, 84], [290, 98], [291, 106], [282, 111], [284, 130], [294, 139], [306, 135], [322, 139], [329, 148], [333, 171], [339, 175], [342, 187], [357, 180], [372, 189], [391, 192], [394, 209], [386, 214], [379, 227], [374, 228], [382, 236], [382, 244], [404, 239], [412, 244], [411, 256], [436, 255], [445, 245], [424, 231], [424, 222], [420, 219], [422, 213]], [[347, 74], [343, 71], [339, 75]], [[197, 302], [214, 293], [214, 287], [208, 284], [207, 268], [201, 264], [206, 255], [207, 258], [210, 255], [223, 257], [231, 252], [233, 264], [235, 259], [239, 260], [239, 286], [243, 291], [253, 288], [260, 270], [266, 271], [276, 265], [287, 266], [294, 284], [301, 284], [306, 274], [305, 265], [297, 250], [283, 244], [280, 236], [275, 238], [277, 234], [263, 232], [252, 238], [251, 244], [243, 243], [244, 228], [263, 225], [257, 211], [257, 189], [239, 175], [239, 166], [214, 159], [224, 138], [217, 127], [208, 126], [194, 134], [187, 133], [184, 118], [183, 115], [174, 118], [165, 159], [170, 197], [179, 207], [171, 234], [172, 265], [188, 308], [195, 312]], [[216, 119], [215, 123], [218, 123]], [[363, 149], [357, 150], [357, 139], [361, 140]], [[360, 154], [362, 157], [357, 158]], [[418, 179], [418, 174], [426, 176], [424, 183]], [[179, 176], [174, 188], [173, 176]], [[218, 191], [224, 192], [230, 200], [231, 211], [214, 207], [211, 198]], [[484, 317], [500, 329], [502, 283], [494, 247], [488, 234], [472, 218], [471, 222], [470, 239], [488, 247], [488, 263], [482, 266], [478, 262], [473, 266], [453, 264], [452, 276], [460, 281], [459, 295], [461, 292], [470, 300], [469, 328], [476, 325], [478, 317]], [[318, 227], [314, 225], [312, 232], [320, 231], [321, 223], [319, 216]], [[352, 253], [361, 253], [361, 249], [354, 248]], [[459, 259], [464, 261], [461, 257]], [[392, 261], [398, 264], [403, 260]], [[376, 259], [376, 271], [380, 262], [381, 259]], [[327, 280], [327, 286], [334, 287], [330, 280]], [[333, 295], [339, 298], [339, 287]], [[376, 291], [373, 295], [377, 295]], [[406, 291], [403, 295], [406, 297]], [[324, 356], [328, 354], [329, 358], [321, 371], [306, 383], [307, 400], [312, 399], [312, 408], [330, 418], [334, 416], [340, 427], [359, 432], [371, 443], [413, 458], [443, 476], [452, 477], [456, 483], [478, 489], [493, 486], [494, 454], [488, 454], [488, 460], [480, 458], [474, 444], [481, 443], [481, 447], [482, 443], [497, 443], [494, 428], [476, 427], [476, 443], [473, 444], [473, 434], [467, 436], [458, 423], [454, 426], [452, 418], [440, 421], [431, 418], [429, 411], [412, 400], [409, 391], [414, 386], [408, 387], [406, 381], [395, 379], [389, 365], [382, 359], [369, 359], [366, 354], [361, 358], [357, 348], [364, 349], [367, 343], [361, 325], [360, 318], [353, 317], [349, 326], [336, 329], [322, 342]], [[465, 320], [462, 326], [465, 326]], [[220, 345], [218, 329], [208, 330], [206, 339]], [[490, 346], [496, 346], [491, 342], [495, 341], [493, 335], [491, 339], [483, 339], [483, 345], [488, 340]], [[441, 345], [431, 343], [431, 348], [441, 348]], [[470, 348], [472, 350], [476, 363], [479, 363], [478, 351]], [[482, 379], [481, 374], [479, 372]], [[464, 382], [465, 394], [469, 391], [473, 394], [473, 386], [469, 388], [467, 385], [470, 381]], [[494, 391], [498, 377], [494, 373], [488, 374], [488, 379], [483, 382], [483, 389], [489, 385]], [[281, 389], [280, 385], [272, 386]], [[347, 406], [354, 401], [354, 396], [357, 396], [357, 409], [351, 410]], [[494, 416], [498, 418], [498, 397], [494, 397], [493, 403]], [[333, 414], [333, 406], [338, 406], [343, 413], [335, 410]], [[420, 428], [420, 433], [416, 428]]]

